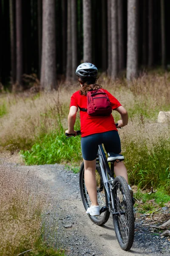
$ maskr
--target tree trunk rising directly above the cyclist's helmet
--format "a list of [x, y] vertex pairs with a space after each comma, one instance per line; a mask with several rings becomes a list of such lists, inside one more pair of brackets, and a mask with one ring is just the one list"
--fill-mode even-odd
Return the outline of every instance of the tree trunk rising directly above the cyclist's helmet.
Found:
[[83, 0], [83, 62], [92, 62], [91, 0]]

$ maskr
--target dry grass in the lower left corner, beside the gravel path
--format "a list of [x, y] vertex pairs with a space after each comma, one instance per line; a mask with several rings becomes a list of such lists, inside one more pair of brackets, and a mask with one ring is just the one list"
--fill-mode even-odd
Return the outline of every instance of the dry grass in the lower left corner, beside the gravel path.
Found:
[[46, 205], [40, 180], [16, 167], [18, 157], [0, 154], [0, 256], [35, 250]]

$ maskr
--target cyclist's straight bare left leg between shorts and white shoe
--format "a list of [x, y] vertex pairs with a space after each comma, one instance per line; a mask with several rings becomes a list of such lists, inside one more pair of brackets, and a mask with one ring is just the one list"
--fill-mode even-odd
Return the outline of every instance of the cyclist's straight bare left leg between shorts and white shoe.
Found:
[[93, 161], [84, 160], [85, 166], [85, 186], [88, 190], [88, 195], [91, 200], [91, 205], [99, 205], [97, 202], [97, 190], [96, 190], [96, 159]]

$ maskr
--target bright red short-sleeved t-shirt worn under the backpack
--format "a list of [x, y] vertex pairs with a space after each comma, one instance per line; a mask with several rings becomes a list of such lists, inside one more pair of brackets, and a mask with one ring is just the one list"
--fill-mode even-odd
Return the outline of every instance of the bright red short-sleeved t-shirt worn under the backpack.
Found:
[[[118, 108], [121, 106], [120, 102], [105, 90], [107, 93], [112, 109]], [[87, 108], [87, 96], [79, 94], [79, 90], [71, 96], [71, 106], [76, 106], [77, 108]], [[113, 116], [89, 116], [87, 112], [80, 111], [80, 124], [81, 124], [81, 132], [82, 137], [102, 133], [105, 131], [113, 131], [116, 130], [116, 125], [113, 119]]]

